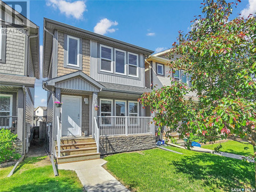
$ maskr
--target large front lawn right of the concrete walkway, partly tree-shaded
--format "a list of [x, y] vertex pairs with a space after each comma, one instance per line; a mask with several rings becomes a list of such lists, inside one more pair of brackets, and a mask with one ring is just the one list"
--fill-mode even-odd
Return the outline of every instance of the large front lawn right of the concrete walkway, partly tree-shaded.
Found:
[[106, 168], [132, 190], [230, 191], [255, 186], [254, 164], [233, 158], [167, 147], [119, 153], [105, 158]]

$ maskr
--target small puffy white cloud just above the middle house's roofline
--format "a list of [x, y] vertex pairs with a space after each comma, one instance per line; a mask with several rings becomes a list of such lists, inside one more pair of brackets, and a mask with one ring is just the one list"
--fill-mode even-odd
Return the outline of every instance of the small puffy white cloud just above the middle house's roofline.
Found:
[[110, 28], [112, 26], [117, 26], [118, 23], [116, 21], [111, 21], [107, 18], [101, 19], [100, 22], [98, 22], [96, 24], [96, 26], [94, 27], [94, 32], [96, 32], [97, 34], [101, 34], [104, 35], [107, 32], [115, 32], [115, 30], [117, 30], [116, 28]]

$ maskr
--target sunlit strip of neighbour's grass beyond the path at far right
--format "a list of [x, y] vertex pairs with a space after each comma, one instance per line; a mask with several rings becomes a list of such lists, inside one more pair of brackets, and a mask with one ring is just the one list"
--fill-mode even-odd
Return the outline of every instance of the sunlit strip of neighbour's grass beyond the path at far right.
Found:
[[[212, 149], [214, 150], [215, 147], [217, 147], [220, 143], [214, 143], [214, 144], [209, 144], [209, 145], [202, 145], [201, 148], [205, 149]], [[224, 143], [221, 143], [222, 148], [220, 151], [226, 152], [226, 153], [234, 153], [237, 155], [244, 155], [244, 156], [249, 156], [249, 155], [254, 155], [253, 152], [253, 145], [247, 145], [247, 144], [242, 144], [237, 141], [226, 141]], [[245, 147], [249, 147], [249, 149], [244, 149]]]

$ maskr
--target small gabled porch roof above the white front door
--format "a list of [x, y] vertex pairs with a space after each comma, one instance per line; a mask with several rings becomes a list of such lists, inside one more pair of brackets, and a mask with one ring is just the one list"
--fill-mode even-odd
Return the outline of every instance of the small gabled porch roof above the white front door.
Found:
[[93, 78], [89, 77], [85, 73], [78, 71], [43, 81], [43, 87], [51, 90], [53, 90], [54, 87], [58, 87], [71, 91], [79, 90], [99, 92], [104, 86], [93, 80]]

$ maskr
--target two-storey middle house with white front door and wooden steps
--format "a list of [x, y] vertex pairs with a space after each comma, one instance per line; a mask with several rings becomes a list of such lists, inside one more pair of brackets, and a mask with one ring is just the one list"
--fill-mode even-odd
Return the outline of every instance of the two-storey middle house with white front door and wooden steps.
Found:
[[155, 146], [151, 116], [138, 102], [150, 91], [144, 59], [153, 51], [46, 18], [43, 38], [49, 145], [58, 163]]

